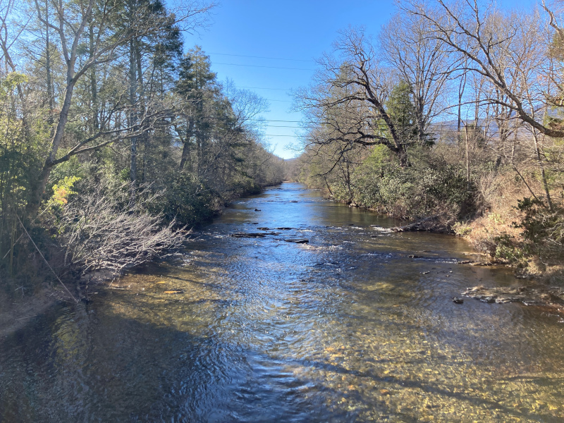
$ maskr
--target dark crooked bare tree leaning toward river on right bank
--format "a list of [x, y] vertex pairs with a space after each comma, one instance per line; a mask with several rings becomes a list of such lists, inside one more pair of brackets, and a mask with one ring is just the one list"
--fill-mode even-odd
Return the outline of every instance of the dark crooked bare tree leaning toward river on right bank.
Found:
[[332, 53], [325, 54], [319, 65], [312, 86], [295, 92], [297, 108], [307, 112], [312, 125], [323, 129], [312, 131], [309, 142], [348, 145], [336, 150], [336, 159], [340, 151], [355, 145], [386, 145], [406, 166], [409, 141], [401, 136], [385, 106], [395, 81], [381, 66], [364, 30], [341, 32]]

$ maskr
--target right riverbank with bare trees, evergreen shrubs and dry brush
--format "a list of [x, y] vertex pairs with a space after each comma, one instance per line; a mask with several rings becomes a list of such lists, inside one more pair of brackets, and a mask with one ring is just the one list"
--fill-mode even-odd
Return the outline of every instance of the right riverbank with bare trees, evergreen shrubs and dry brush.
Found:
[[560, 280], [562, 12], [406, 0], [374, 36], [343, 30], [295, 92], [293, 177]]

